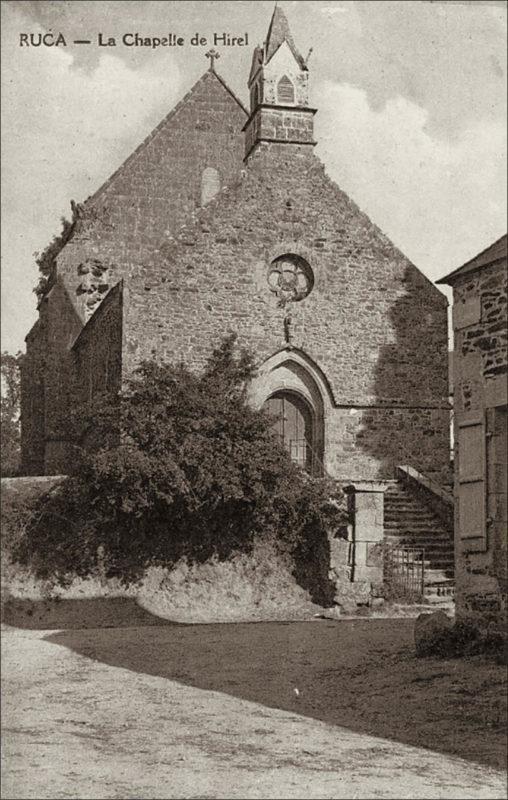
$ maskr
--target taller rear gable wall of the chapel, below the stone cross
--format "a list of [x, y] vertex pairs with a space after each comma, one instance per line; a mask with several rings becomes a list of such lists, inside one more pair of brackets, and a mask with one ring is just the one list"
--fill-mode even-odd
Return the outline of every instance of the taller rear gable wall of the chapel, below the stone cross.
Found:
[[[218, 171], [220, 185], [235, 181], [243, 168], [247, 113], [216, 73], [208, 71], [148, 139], [88, 201], [99, 217], [101, 252], [110, 260], [156, 250], [201, 205], [205, 169]], [[97, 242], [96, 242], [97, 244]]]

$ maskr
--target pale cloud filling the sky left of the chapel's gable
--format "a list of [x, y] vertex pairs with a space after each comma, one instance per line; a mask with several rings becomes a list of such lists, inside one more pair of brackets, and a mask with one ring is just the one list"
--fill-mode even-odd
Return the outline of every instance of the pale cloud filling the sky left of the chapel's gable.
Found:
[[26, 20], [2, 16], [2, 347], [13, 349], [36, 318], [33, 252], [171, 109], [179, 75], [168, 54], [133, 70], [108, 53], [83, 72], [63, 48], [20, 49]]

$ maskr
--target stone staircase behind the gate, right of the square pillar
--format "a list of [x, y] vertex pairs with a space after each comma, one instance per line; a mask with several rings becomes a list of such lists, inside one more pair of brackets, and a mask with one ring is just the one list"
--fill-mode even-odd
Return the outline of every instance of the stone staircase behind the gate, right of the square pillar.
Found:
[[384, 536], [392, 547], [424, 548], [426, 603], [447, 605], [453, 600], [453, 530], [400, 481], [385, 492]]

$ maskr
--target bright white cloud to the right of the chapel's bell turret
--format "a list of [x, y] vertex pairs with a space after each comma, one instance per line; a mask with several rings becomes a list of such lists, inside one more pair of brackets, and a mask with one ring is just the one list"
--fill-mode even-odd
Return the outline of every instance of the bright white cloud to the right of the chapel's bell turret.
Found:
[[370, 108], [348, 84], [319, 87], [318, 153], [328, 172], [432, 279], [506, 228], [506, 126], [477, 121], [454, 141], [403, 97]]

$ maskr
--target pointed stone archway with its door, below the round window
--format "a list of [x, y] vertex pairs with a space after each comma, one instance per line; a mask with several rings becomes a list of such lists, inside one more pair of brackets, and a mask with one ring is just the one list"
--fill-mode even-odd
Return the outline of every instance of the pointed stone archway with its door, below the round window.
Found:
[[300, 466], [315, 475], [326, 469], [325, 420], [332, 398], [312, 359], [295, 350], [270, 356], [252, 381], [249, 399], [274, 415], [274, 431]]

